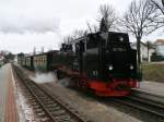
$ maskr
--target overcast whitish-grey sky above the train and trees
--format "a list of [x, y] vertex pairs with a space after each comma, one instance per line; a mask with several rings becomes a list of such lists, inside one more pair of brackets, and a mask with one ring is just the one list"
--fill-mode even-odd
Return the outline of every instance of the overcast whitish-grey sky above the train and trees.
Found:
[[[98, 7], [112, 4], [118, 13], [132, 0], [0, 0], [0, 50], [14, 53], [57, 49], [62, 37], [95, 23]], [[162, 34], [144, 39], [155, 40]]]

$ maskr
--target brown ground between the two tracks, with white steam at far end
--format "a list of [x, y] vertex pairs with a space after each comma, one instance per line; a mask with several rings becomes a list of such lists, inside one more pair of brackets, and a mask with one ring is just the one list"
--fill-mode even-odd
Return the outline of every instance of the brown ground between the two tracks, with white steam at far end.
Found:
[[[78, 110], [79, 113], [87, 120], [93, 120], [94, 122], [141, 122], [140, 120], [130, 117], [114, 107], [102, 103], [81, 91], [63, 86], [67, 85], [66, 81], [68, 80], [57, 81], [54, 73], [34, 74], [28, 71], [26, 71], [26, 73], [51, 94], [58, 96], [58, 98], [65, 101], [69, 107]], [[62, 85], [60, 83], [62, 83]]]

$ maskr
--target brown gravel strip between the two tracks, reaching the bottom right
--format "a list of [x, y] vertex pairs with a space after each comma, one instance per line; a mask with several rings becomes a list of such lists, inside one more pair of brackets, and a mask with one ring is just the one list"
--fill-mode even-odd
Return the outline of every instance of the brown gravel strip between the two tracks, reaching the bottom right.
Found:
[[[39, 81], [38, 73], [25, 70], [25, 73], [30, 74], [30, 77], [35, 80], [40, 86], [45, 87], [54, 96], [58, 97], [69, 108], [72, 108], [81, 117], [93, 122], [163, 122], [152, 118], [150, 114], [143, 113], [140, 110], [127, 107], [125, 105], [116, 103], [113, 101], [106, 101], [95, 96], [86, 95], [83, 91], [79, 91], [72, 88], [68, 88], [68, 80], [57, 81], [56, 77], [49, 80], [49, 73], [45, 81]], [[54, 73], [51, 73], [54, 75]], [[42, 74], [43, 76], [43, 74]], [[40, 76], [40, 77], [42, 77]]]

